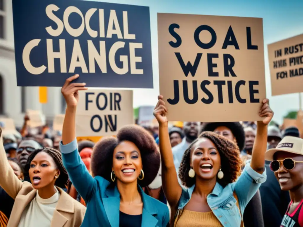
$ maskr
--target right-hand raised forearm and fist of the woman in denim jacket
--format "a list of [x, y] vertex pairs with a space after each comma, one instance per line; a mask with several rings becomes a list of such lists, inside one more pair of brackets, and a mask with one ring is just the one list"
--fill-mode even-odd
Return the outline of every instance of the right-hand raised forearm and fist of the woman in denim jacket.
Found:
[[265, 117], [263, 121], [257, 122], [257, 135], [251, 153], [250, 166], [257, 173], [262, 174], [265, 170], [265, 151], [267, 149], [267, 125], [274, 116], [273, 111], [268, 105], [269, 100], [264, 99], [262, 107], [259, 111], [261, 117]]

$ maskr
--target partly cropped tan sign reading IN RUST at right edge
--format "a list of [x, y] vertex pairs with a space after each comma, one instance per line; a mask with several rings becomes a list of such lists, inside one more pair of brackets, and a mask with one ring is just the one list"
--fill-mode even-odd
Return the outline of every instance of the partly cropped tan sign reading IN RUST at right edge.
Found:
[[271, 95], [303, 92], [303, 34], [268, 45]]

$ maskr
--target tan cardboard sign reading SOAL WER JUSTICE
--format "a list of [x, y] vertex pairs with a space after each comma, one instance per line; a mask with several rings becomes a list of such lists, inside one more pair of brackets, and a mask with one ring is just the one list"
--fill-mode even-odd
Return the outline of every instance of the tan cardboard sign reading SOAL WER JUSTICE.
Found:
[[169, 121], [261, 120], [262, 18], [158, 13], [158, 49]]

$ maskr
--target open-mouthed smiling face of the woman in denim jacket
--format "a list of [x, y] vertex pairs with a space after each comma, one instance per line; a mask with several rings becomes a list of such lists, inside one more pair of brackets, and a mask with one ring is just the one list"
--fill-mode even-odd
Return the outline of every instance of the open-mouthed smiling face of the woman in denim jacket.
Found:
[[217, 176], [221, 166], [220, 154], [213, 142], [201, 138], [191, 148], [191, 167], [196, 176], [210, 180]]

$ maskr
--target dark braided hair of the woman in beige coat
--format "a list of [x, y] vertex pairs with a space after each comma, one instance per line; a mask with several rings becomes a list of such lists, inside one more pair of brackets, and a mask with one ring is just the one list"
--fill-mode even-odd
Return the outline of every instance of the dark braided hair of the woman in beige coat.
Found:
[[60, 171], [60, 175], [59, 175], [58, 179], [55, 181], [55, 186], [58, 186], [59, 188], [65, 188], [65, 186], [68, 185], [68, 173], [67, 173], [66, 169], [63, 166], [61, 152], [54, 149], [54, 148], [44, 147], [44, 148], [40, 148], [40, 149], [37, 149], [37, 150], [33, 151], [28, 156], [28, 160], [27, 160], [27, 163], [26, 163], [25, 168], [24, 168], [25, 173], [28, 174], [28, 171], [29, 171], [32, 160], [40, 152], [45, 152], [49, 156], [51, 156], [52, 159], [54, 160], [54, 162], [56, 163], [57, 168]]

